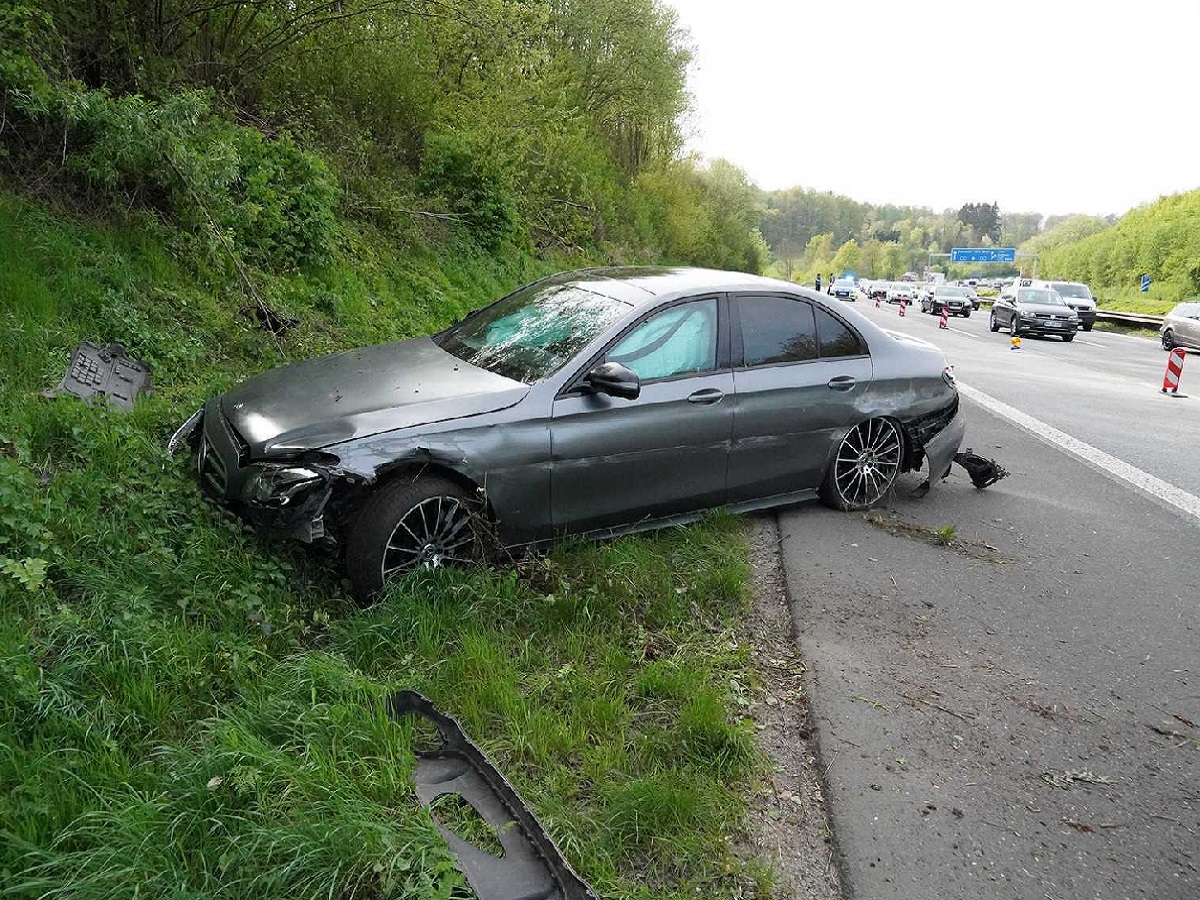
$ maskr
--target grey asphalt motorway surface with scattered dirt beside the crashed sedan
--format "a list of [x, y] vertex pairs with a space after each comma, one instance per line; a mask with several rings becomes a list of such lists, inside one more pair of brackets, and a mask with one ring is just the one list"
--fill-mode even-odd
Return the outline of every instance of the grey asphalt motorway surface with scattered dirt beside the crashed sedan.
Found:
[[[940, 332], [857, 306], [1049, 433], [1200, 488], [1200, 366], [1196, 398], [1169, 400], [1150, 341], [1093, 331], [1014, 353], [985, 313]], [[780, 514], [847, 890], [1196, 900], [1200, 518], [964, 403], [967, 443], [1009, 479], [980, 492], [956, 469], [912, 500], [905, 476], [877, 522]], [[952, 524], [950, 546], [932, 541]]]

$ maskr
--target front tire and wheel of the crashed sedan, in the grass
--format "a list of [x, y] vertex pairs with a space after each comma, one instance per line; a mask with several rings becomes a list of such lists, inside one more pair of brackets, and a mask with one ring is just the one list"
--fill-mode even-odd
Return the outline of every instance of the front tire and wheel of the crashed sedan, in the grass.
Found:
[[[367, 500], [346, 544], [346, 571], [364, 604], [395, 575], [482, 559], [479, 503], [449, 479], [401, 476]], [[397, 536], [400, 535], [400, 536]]]

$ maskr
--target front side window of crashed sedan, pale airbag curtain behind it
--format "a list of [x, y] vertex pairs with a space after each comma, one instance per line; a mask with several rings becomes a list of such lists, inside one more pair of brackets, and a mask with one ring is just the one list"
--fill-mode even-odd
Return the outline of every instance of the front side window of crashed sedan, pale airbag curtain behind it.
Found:
[[716, 368], [716, 300], [694, 300], [650, 316], [605, 355], [643, 382]]

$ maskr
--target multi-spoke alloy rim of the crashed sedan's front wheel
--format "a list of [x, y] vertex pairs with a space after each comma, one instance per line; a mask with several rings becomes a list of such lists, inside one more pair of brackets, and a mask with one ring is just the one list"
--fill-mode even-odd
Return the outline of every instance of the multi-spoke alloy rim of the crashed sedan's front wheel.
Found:
[[440, 569], [473, 562], [472, 511], [457, 497], [430, 497], [406, 512], [388, 538], [384, 580], [412, 569]]

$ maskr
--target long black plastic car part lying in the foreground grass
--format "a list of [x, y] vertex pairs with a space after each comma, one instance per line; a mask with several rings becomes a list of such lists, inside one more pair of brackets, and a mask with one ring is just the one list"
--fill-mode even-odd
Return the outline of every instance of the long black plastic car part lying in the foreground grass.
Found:
[[[392, 719], [420, 716], [432, 722], [442, 739], [434, 750], [416, 751], [413, 780], [426, 809], [439, 797], [455, 794], [474, 808], [494, 832], [502, 856], [476, 847], [438, 822], [458, 870], [479, 900], [599, 900], [475, 743], [455, 719], [438, 712], [416, 691], [388, 698]], [[434, 821], [437, 821], [434, 818]]]

